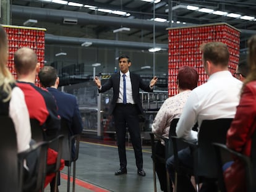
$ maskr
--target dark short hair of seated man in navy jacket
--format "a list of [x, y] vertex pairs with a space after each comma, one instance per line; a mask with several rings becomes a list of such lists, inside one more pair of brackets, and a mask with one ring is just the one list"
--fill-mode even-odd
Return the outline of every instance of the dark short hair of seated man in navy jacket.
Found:
[[38, 78], [43, 87], [47, 88], [54, 86], [56, 79], [58, 78], [57, 71], [54, 69], [54, 67], [45, 66], [38, 73]]

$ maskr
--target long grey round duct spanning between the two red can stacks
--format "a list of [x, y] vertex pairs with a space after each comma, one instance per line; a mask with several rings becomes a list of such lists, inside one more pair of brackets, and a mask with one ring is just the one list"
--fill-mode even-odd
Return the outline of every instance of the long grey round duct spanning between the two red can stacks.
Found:
[[[116, 40], [98, 40], [88, 38], [76, 38], [70, 36], [56, 36], [45, 34], [45, 42], [47, 44], [73, 44], [81, 45], [84, 42], [90, 41], [93, 46], [108, 46], [114, 48], [132, 48], [132, 49], [149, 49], [152, 48], [152, 43], [140, 43], [134, 41], [116, 41]], [[168, 44], [155, 44], [155, 46], [168, 49]]]

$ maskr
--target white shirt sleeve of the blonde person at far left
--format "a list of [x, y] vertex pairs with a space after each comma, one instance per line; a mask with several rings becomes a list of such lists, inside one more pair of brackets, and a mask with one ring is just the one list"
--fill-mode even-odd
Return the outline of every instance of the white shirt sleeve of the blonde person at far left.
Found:
[[25, 151], [26, 149], [30, 148], [30, 117], [24, 94], [17, 86], [15, 86], [12, 90], [11, 100], [9, 103], [9, 116], [14, 122], [18, 152]]

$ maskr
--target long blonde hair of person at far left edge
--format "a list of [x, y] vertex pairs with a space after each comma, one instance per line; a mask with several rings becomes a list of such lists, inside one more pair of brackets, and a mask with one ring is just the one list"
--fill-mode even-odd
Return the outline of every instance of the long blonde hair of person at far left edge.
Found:
[[8, 59], [8, 41], [4, 28], [0, 25], [0, 91], [3, 102], [7, 102], [11, 99], [12, 83], [15, 83], [11, 72], [7, 68]]

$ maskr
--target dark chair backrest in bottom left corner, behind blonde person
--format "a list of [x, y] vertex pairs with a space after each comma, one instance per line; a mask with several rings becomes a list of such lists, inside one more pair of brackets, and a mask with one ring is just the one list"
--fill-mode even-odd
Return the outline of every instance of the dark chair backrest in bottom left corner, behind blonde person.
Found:
[[16, 131], [12, 119], [0, 116], [0, 186], [1, 191], [19, 191]]

